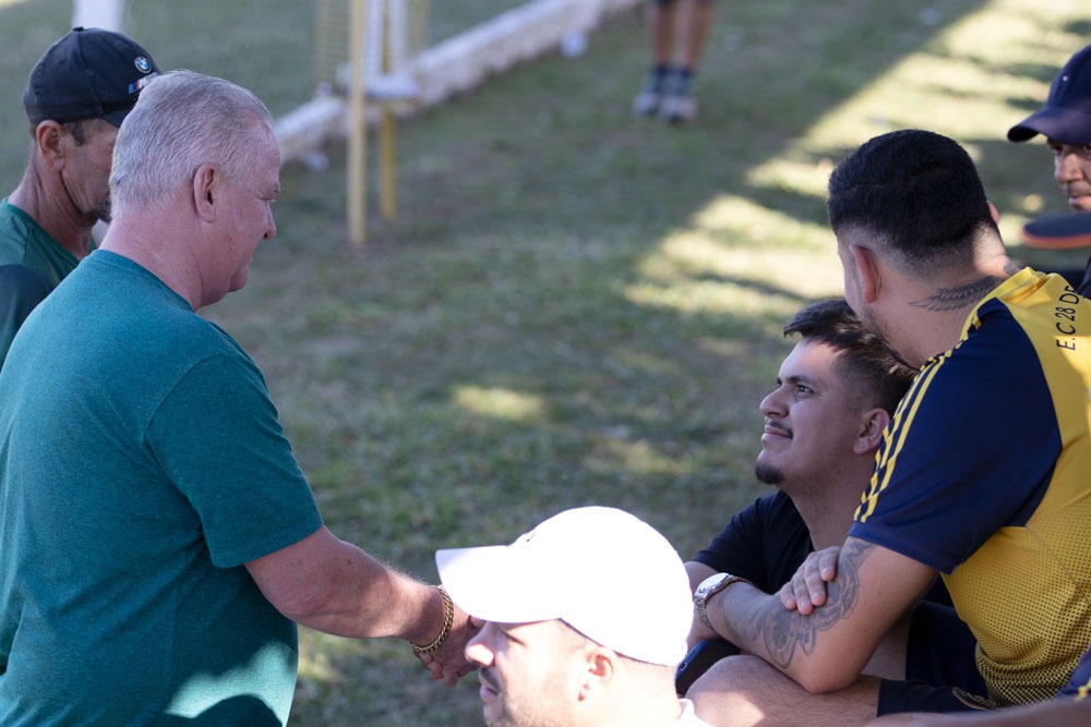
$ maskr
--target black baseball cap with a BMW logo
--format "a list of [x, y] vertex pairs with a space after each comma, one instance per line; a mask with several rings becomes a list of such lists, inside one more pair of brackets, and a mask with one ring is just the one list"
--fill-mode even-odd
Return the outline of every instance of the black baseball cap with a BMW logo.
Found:
[[100, 28], [73, 28], [49, 46], [23, 92], [32, 124], [104, 119], [120, 126], [136, 96], [159, 74], [132, 38]]

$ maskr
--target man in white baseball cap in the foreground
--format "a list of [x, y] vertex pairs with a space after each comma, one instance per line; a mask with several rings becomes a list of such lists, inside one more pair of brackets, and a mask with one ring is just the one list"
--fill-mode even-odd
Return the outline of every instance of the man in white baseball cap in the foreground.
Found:
[[481, 630], [490, 727], [705, 725], [674, 692], [693, 616], [682, 559], [606, 507], [565, 510], [511, 545], [439, 550], [440, 580]]

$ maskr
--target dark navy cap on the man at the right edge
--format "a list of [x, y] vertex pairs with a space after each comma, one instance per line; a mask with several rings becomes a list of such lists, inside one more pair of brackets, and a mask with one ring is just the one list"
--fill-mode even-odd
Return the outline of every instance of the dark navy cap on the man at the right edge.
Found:
[[1045, 106], [1008, 130], [1009, 142], [1045, 134], [1062, 144], [1091, 142], [1091, 46], [1077, 52], [1050, 86]]

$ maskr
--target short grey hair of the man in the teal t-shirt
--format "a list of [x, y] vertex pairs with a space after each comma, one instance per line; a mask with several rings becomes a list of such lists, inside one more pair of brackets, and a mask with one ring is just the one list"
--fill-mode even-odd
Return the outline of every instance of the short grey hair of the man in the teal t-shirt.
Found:
[[110, 172], [113, 216], [161, 208], [204, 163], [240, 182], [260, 154], [255, 122], [272, 128], [273, 117], [261, 99], [230, 81], [185, 70], [158, 76], [118, 131]]

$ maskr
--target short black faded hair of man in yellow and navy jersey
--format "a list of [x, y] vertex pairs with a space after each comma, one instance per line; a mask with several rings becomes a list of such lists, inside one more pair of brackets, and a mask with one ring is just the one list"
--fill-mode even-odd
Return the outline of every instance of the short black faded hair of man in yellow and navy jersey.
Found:
[[834, 169], [828, 192], [835, 234], [864, 230], [904, 271], [920, 276], [968, 266], [980, 237], [999, 234], [970, 155], [930, 131], [870, 140]]

